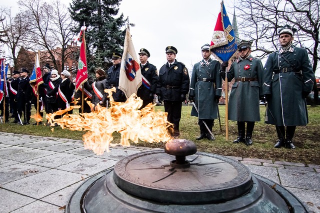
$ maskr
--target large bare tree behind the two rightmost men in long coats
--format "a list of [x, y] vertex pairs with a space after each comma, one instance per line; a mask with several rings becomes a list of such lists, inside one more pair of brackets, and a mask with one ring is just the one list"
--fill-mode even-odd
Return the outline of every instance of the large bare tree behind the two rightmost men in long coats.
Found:
[[[252, 51], [260, 58], [279, 46], [278, 29], [289, 24], [298, 29], [294, 44], [306, 48], [315, 72], [320, 61], [319, 28], [320, 1], [318, 0], [237, 0], [235, 3], [239, 34], [255, 41]], [[314, 102], [318, 90], [314, 81]]]

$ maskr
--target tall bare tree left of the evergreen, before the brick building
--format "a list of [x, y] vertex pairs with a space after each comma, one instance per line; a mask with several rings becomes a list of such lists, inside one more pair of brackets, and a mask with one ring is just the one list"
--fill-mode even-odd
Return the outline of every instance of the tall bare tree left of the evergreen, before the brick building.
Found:
[[52, 61], [55, 68], [61, 66], [63, 70], [66, 58], [78, 51], [76, 48], [68, 48], [75, 22], [70, 18], [67, 6], [59, 0], [19, 0], [18, 4], [28, 11], [28, 22], [32, 25], [28, 38], [34, 45], [28, 48], [45, 50], [45, 54], [40, 56], [41, 60]]

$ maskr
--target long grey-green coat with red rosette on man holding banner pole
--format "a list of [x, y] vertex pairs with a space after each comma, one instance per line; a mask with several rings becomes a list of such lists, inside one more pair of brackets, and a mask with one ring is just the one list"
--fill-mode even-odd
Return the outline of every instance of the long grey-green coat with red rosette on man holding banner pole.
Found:
[[[262, 95], [263, 84], [261, 61], [251, 55], [243, 60], [239, 58], [231, 64], [227, 72], [228, 81], [233, 78], [235, 81], [228, 100], [228, 119], [260, 121], [259, 96]], [[239, 79], [241, 80], [237, 81]]]

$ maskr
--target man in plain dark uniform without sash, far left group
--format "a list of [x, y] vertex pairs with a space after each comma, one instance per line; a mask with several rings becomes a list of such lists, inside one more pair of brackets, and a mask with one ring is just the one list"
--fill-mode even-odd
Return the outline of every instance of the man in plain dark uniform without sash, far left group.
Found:
[[30, 124], [31, 116], [31, 96], [32, 87], [30, 85], [30, 78], [28, 77], [29, 71], [25, 68], [21, 69], [20, 82], [18, 84], [18, 91], [16, 94], [18, 114], [21, 118], [23, 112], [23, 125]]

